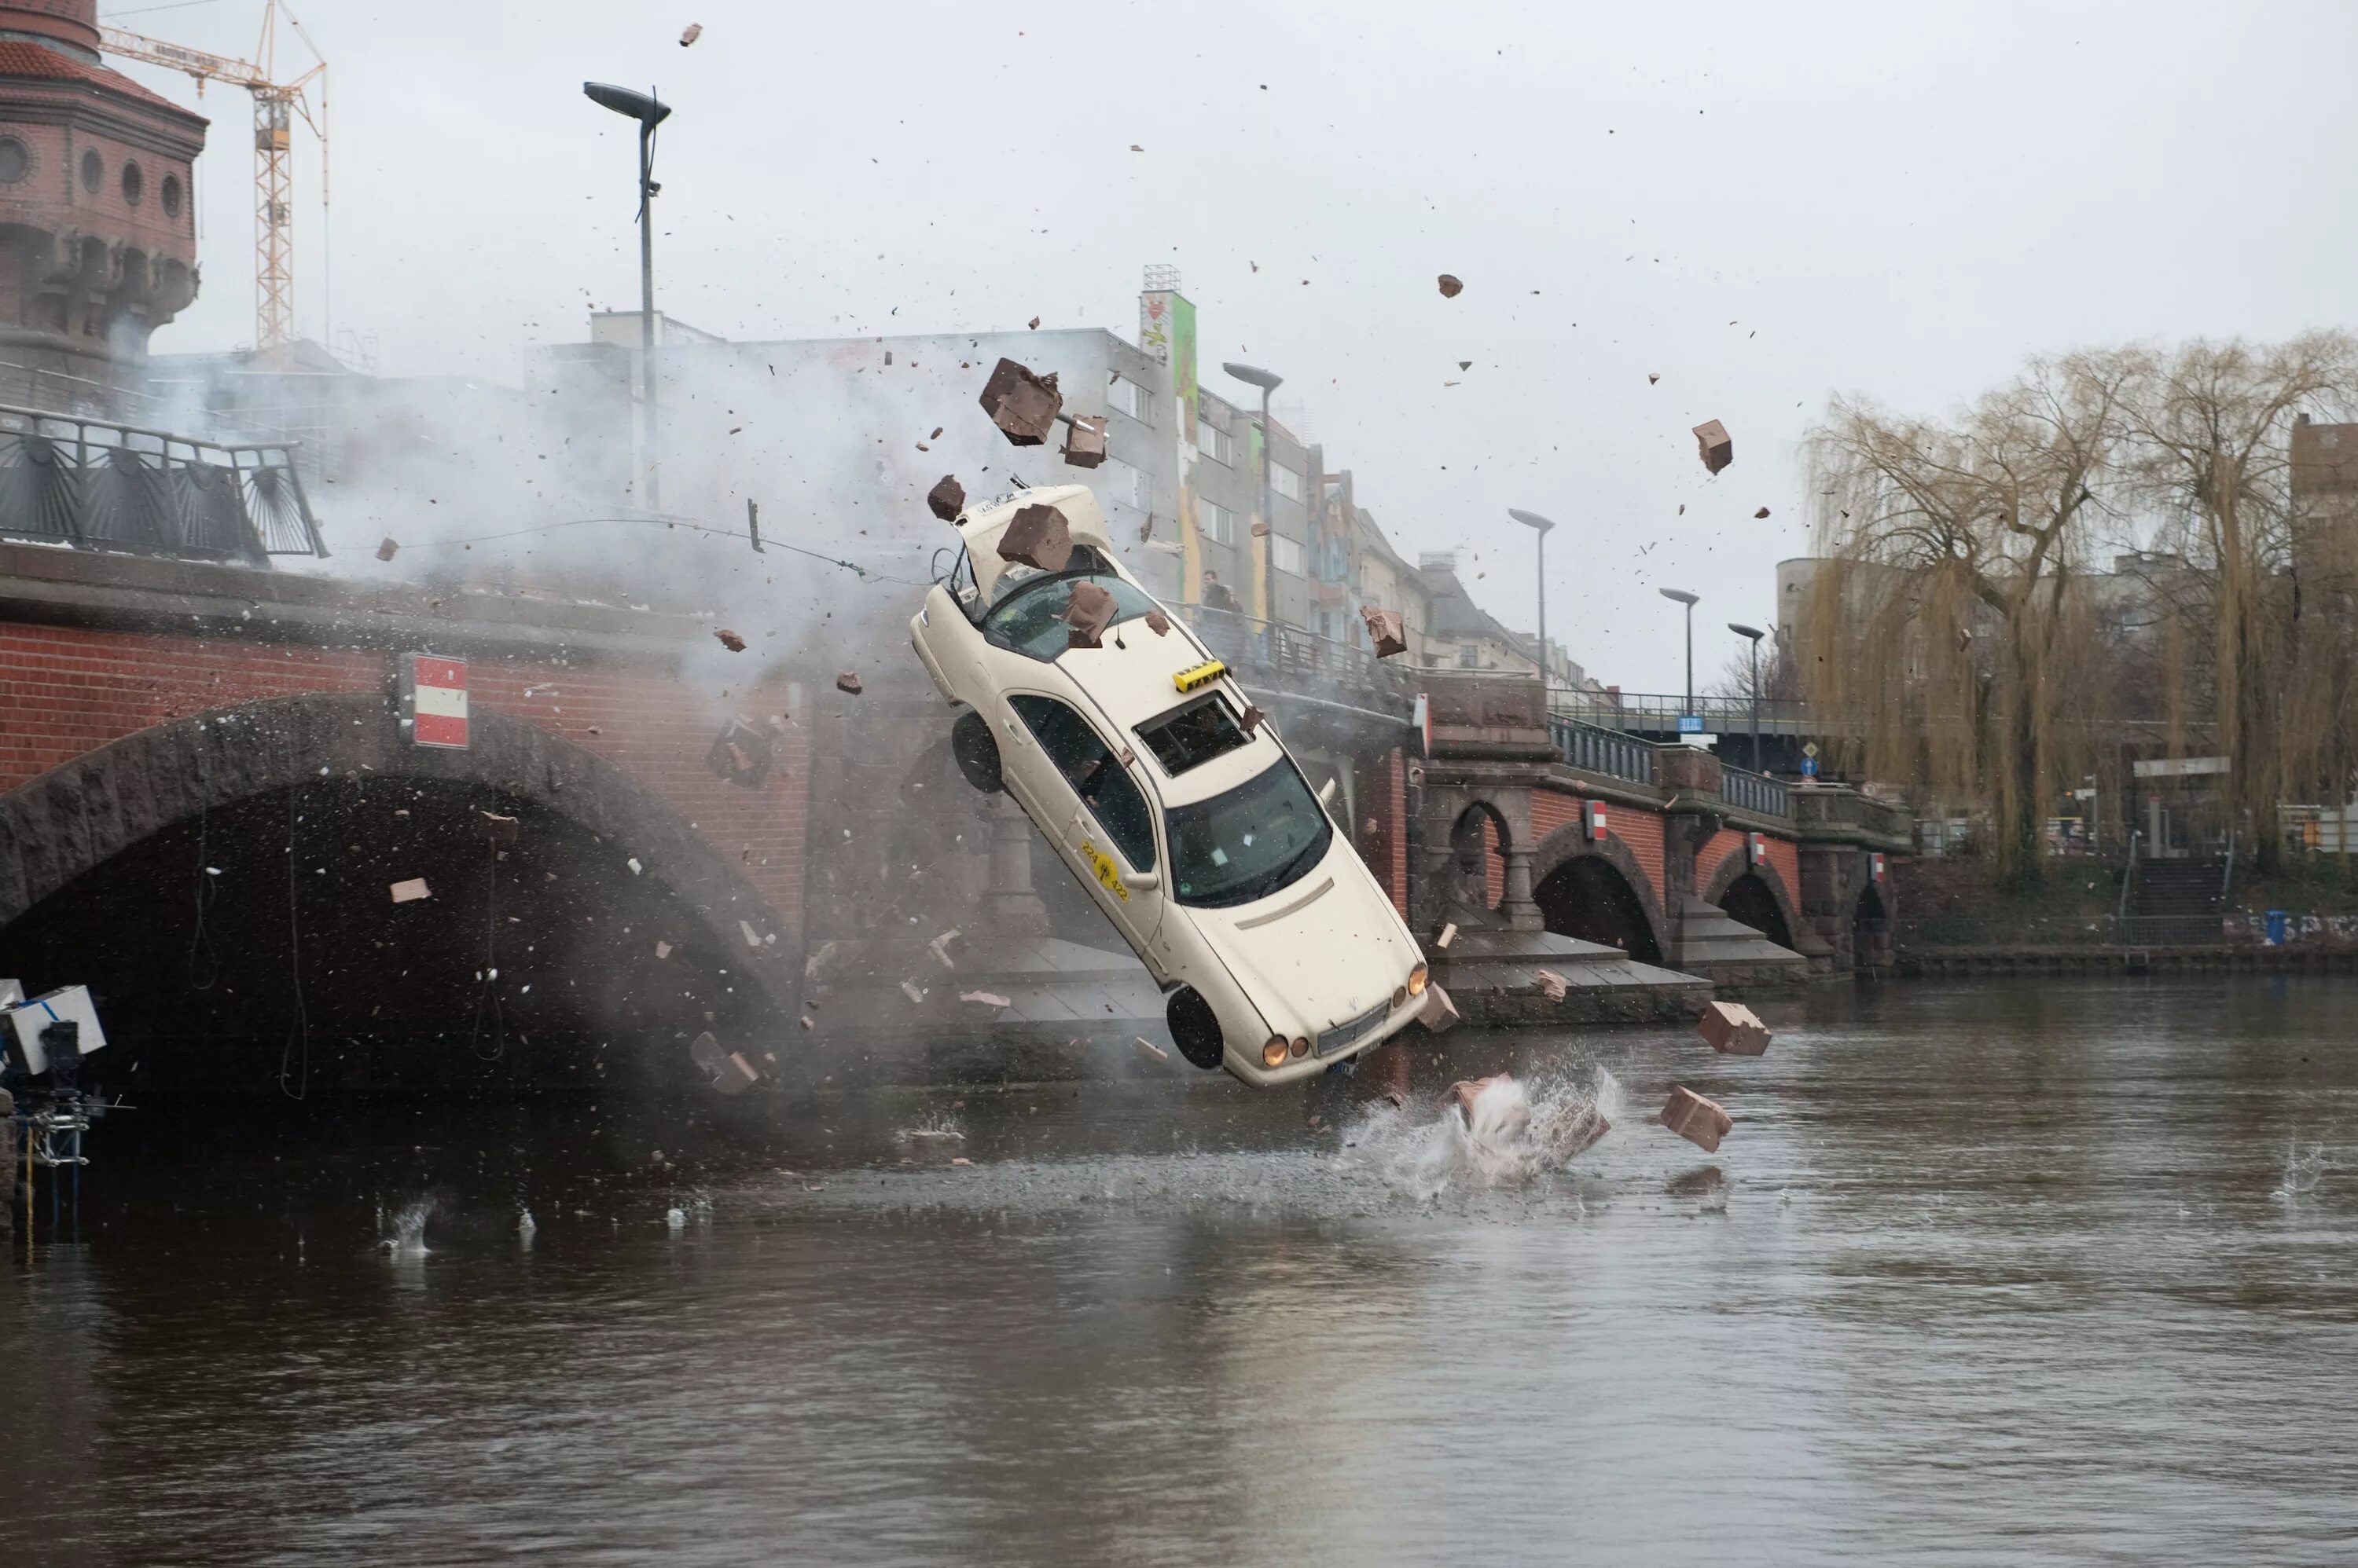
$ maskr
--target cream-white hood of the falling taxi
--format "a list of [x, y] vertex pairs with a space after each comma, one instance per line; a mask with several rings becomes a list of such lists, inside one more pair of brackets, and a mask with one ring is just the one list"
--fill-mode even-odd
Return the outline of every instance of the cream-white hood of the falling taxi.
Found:
[[1342, 832], [1292, 887], [1233, 910], [1188, 908], [1205, 943], [1252, 993], [1269, 1028], [1313, 1040], [1408, 981], [1424, 962]]

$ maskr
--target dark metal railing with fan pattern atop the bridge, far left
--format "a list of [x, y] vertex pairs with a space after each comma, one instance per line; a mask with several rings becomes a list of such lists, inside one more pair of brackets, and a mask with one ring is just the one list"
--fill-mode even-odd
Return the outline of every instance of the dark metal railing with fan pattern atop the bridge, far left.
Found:
[[184, 561], [325, 556], [295, 443], [0, 406], [0, 538]]

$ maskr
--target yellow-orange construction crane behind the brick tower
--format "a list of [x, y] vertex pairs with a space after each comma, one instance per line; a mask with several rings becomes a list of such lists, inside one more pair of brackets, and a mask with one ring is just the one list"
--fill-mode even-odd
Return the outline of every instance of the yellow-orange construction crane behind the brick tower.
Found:
[[[276, 80], [278, 17], [285, 17], [295, 38], [311, 52], [311, 68], [285, 83]], [[123, 28], [99, 28], [99, 47], [149, 66], [186, 71], [196, 78], [196, 97], [205, 97], [205, 83], [229, 83], [255, 94], [255, 347], [276, 349], [295, 342], [295, 116], [302, 116], [318, 137], [318, 205], [323, 215], [328, 207], [328, 61], [318, 45], [304, 33], [295, 12], [281, 0], [266, 0], [262, 42], [250, 61]], [[311, 113], [314, 87], [318, 116]]]

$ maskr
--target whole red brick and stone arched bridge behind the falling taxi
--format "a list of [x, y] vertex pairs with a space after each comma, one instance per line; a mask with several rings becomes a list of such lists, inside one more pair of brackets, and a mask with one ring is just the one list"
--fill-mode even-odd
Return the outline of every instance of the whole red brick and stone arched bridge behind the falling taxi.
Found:
[[[413, 651], [467, 660], [467, 750], [408, 740]], [[1877, 802], [1549, 722], [1516, 681], [1259, 653], [1247, 686], [1427, 934], [1554, 929], [1738, 983], [1884, 962], [1870, 861], [1905, 839]], [[795, 1040], [830, 943], [1035, 922], [1108, 946], [1021, 818], [955, 783], [905, 648], [865, 674], [839, 696], [686, 615], [0, 545], [0, 974], [90, 981], [123, 1040], [184, 1047], [144, 1082], [299, 1094]], [[731, 717], [759, 778], [714, 771]], [[391, 903], [410, 877], [432, 896]], [[955, 1016], [929, 1007], [889, 1023]]]

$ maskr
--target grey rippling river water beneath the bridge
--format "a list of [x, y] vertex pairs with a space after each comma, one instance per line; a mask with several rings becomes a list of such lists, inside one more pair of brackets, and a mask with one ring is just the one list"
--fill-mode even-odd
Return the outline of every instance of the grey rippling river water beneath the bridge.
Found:
[[[116, 1118], [80, 1240], [42, 1217], [0, 1294], [0, 1540], [2351, 1563], [2353, 1002], [1839, 990], [1764, 1004], [1764, 1059], [1453, 1035], [1405, 1108], [1379, 1073], [1309, 1099], [1165, 1073], [733, 1132]], [[1502, 1066], [1613, 1132], [1568, 1170], [1474, 1158], [1434, 1101]], [[1717, 1155], [1648, 1120], [1674, 1080], [1735, 1115]]]

